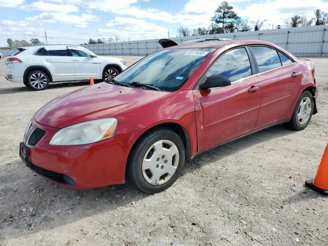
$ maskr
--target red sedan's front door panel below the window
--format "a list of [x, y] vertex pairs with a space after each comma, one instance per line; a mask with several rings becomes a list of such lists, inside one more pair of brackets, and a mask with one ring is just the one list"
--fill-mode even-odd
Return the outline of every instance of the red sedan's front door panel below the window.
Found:
[[259, 86], [260, 80], [254, 76], [227, 87], [193, 91], [198, 151], [254, 129], [260, 106]]

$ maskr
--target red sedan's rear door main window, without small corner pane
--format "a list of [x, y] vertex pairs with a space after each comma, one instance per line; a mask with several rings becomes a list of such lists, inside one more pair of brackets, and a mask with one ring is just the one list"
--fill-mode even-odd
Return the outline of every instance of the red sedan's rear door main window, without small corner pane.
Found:
[[265, 72], [281, 66], [276, 50], [264, 46], [251, 46], [250, 49], [255, 55], [259, 72]]

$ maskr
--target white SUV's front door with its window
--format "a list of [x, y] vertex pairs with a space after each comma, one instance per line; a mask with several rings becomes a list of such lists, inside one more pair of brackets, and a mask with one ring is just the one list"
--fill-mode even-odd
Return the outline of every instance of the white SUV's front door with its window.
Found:
[[80, 48], [70, 48], [73, 56], [76, 80], [87, 80], [90, 77], [100, 79], [100, 60], [97, 56]]

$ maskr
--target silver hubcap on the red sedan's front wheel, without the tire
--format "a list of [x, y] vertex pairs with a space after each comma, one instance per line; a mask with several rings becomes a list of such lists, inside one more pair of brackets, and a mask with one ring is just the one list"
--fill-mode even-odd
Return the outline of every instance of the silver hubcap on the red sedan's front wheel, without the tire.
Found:
[[154, 186], [169, 181], [177, 170], [179, 151], [170, 140], [155, 142], [142, 160], [142, 174], [148, 183]]

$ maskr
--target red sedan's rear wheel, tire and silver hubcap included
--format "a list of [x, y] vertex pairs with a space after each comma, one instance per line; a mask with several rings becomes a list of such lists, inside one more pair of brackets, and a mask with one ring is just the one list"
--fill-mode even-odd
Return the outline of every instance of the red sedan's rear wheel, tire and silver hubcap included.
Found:
[[311, 92], [303, 91], [297, 100], [292, 118], [283, 125], [291, 130], [300, 131], [305, 129], [311, 120], [314, 109], [314, 100]]

